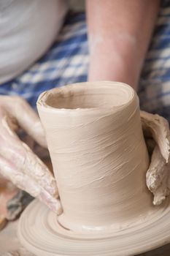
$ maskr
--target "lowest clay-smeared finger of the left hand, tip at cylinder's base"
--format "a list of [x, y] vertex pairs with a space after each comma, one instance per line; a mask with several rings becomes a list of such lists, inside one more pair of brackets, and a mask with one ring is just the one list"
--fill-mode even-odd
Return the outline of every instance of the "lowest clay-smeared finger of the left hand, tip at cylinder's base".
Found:
[[39, 198], [56, 214], [61, 214], [60, 200], [50, 195], [44, 187], [39, 186], [37, 181], [28, 176], [27, 173], [22, 173], [18, 169], [14, 169], [14, 167], [11, 162], [0, 156], [0, 173], [2, 176], [11, 180], [18, 188], [25, 190], [33, 197]]

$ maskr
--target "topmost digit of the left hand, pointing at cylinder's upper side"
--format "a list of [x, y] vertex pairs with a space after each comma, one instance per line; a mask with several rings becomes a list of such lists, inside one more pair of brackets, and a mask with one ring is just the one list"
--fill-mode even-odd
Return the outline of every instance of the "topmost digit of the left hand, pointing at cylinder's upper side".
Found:
[[39, 116], [23, 98], [1, 96], [0, 105], [39, 145], [47, 147], [45, 132]]

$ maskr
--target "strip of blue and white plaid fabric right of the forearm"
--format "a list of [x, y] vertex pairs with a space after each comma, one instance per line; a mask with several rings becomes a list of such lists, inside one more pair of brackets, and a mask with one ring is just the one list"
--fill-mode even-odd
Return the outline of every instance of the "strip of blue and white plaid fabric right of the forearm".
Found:
[[170, 1], [162, 7], [139, 83], [141, 108], [170, 122]]

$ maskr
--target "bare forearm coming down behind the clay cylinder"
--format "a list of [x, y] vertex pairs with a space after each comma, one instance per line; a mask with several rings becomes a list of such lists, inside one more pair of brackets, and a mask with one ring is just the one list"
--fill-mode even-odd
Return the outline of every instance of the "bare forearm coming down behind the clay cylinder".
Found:
[[159, 0], [87, 0], [88, 80], [117, 80], [136, 89]]

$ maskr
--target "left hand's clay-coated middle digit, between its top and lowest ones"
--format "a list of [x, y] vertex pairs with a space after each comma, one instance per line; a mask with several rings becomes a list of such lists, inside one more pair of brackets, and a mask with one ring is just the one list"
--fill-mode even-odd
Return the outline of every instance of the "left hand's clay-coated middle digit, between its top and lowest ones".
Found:
[[4, 156], [14, 169], [27, 173], [34, 178], [39, 186], [44, 187], [50, 195], [58, 197], [58, 189], [55, 178], [47, 166], [37, 157], [26, 143], [23, 143], [17, 136], [13, 135], [8, 124], [6, 129], [1, 129], [0, 146], [1, 156]]

